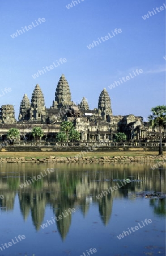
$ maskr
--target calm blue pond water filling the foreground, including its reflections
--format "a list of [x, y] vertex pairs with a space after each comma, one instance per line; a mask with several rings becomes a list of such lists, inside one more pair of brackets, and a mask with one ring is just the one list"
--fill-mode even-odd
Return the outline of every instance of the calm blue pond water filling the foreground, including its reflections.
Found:
[[165, 255], [165, 169], [153, 164], [1, 164], [0, 255]]

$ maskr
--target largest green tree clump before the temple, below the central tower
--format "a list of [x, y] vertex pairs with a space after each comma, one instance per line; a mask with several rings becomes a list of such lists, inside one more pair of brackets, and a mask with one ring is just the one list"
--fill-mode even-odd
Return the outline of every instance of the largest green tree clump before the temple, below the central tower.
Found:
[[80, 135], [77, 130], [75, 130], [72, 122], [63, 121], [61, 123], [61, 131], [57, 134], [58, 141], [79, 141]]

